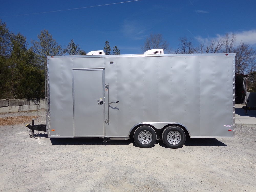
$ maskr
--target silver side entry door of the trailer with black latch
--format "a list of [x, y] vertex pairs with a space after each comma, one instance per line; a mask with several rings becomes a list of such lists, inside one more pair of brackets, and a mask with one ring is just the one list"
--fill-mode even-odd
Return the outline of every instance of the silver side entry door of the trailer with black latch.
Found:
[[104, 69], [72, 69], [74, 136], [104, 136]]

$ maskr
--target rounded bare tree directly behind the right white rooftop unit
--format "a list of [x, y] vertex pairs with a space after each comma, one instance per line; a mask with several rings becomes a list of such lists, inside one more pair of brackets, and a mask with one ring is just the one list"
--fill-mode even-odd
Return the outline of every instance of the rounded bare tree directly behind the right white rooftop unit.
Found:
[[147, 37], [144, 46], [141, 47], [142, 52], [150, 49], [164, 49], [164, 51], [169, 52], [169, 43], [163, 39], [162, 34], [150, 34]]

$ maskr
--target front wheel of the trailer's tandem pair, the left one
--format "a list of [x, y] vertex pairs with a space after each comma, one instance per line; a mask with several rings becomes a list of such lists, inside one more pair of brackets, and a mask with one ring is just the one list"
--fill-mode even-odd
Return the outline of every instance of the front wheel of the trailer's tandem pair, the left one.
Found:
[[156, 132], [150, 126], [138, 127], [133, 134], [133, 140], [138, 147], [153, 147], [156, 143]]

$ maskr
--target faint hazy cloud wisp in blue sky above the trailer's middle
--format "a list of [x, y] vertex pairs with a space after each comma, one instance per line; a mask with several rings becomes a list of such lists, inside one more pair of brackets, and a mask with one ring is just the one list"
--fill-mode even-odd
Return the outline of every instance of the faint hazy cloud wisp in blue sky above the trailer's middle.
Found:
[[122, 27], [121, 32], [133, 39], [133, 40], [142, 40], [145, 39], [147, 36], [146, 34], [147, 29], [143, 27], [140, 23], [136, 21], [127, 21], [125, 20]]

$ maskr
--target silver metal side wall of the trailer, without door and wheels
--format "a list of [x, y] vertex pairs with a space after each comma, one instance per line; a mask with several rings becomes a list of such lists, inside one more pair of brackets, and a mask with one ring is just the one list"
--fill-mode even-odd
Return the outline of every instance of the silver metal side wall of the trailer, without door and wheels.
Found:
[[[178, 122], [191, 137], [233, 137], [234, 54], [66, 57], [48, 57], [48, 135], [74, 137], [72, 70], [101, 68], [109, 84], [103, 96], [103, 115], [109, 117], [104, 137], [128, 137], [141, 122]], [[108, 110], [108, 101], [119, 102]], [[97, 115], [90, 120], [97, 121]], [[93, 129], [86, 116], [84, 129]]]

